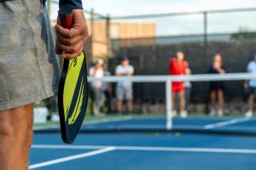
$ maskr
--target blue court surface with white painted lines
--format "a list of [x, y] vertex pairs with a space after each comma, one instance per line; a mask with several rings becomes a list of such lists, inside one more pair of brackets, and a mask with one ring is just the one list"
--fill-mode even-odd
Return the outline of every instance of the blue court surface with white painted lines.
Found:
[[[148, 120], [148, 122], [147, 122]], [[150, 122], [150, 123], [149, 123]], [[126, 116], [90, 122], [84, 128], [165, 126], [164, 118]], [[176, 118], [173, 128], [253, 132], [256, 121], [246, 118]], [[138, 127], [137, 127], [138, 128]], [[60, 133], [35, 133], [30, 169], [172, 169], [254, 170], [256, 136], [224, 133], [115, 132], [80, 133], [75, 143], [61, 142]]]

